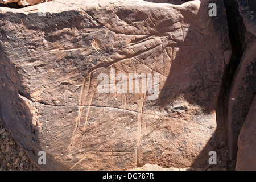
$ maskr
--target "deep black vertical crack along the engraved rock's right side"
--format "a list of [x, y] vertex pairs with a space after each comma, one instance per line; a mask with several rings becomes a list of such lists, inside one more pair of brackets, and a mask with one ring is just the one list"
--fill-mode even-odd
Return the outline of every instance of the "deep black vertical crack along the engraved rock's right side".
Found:
[[[229, 28], [228, 32], [230, 44], [232, 46], [232, 56], [230, 57], [229, 64], [226, 65], [226, 71], [222, 78], [222, 85], [218, 98], [218, 107], [216, 110], [216, 119], [217, 123], [219, 123], [216, 131], [218, 133], [218, 140], [225, 141], [225, 150], [229, 150], [229, 155], [233, 153], [235, 156], [237, 154], [237, 150], [228, 147], [230, 142], [228, 139], [228, 128], [230, 127], [228, 124], [228, 98], [234, 81], [235, 73], [241, 61], [243, 49], [245, 48], [245, 46], [242, 44], [245, 39], [245, 34], [243, 34], [245, 32], [245, 27], [243, 26], [243, 19], [238, 12], [237, 3], [226, 0], [224, 1], [224, 5], [226, 7], [226, 19]], [[234, 145], [236, 146], [237, 139], [238, 138], [234, 139]], [[230, 171], [233, 171], [236, 167], [236, 162], [234, 159], [235, 158], [228, 159], [227, 169]]]

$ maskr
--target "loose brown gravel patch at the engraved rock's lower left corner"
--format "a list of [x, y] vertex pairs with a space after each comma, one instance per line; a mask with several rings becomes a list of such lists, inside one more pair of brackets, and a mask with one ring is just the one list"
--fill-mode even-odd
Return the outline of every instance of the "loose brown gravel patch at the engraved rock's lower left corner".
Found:
[[0, 171], [40, 171], [0, 120]]

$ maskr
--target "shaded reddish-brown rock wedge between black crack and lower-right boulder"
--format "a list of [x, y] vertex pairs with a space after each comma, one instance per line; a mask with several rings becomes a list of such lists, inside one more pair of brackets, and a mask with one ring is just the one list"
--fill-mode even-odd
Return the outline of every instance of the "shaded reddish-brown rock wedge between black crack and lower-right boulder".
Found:
[[237, 151], [237, 139], [256, 92], [256, 40], [246, 45], [229, 95], [230, 159]]

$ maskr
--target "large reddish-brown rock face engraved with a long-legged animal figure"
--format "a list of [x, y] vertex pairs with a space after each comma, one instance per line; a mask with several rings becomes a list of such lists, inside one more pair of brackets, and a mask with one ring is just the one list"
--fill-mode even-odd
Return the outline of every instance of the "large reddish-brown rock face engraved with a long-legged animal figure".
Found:
[[210, 17], [210, 2], [1, 8], [2, 121], [35, 163], [46, 152], [42, 169], [207, 166], [231, 55], [224, 5]]

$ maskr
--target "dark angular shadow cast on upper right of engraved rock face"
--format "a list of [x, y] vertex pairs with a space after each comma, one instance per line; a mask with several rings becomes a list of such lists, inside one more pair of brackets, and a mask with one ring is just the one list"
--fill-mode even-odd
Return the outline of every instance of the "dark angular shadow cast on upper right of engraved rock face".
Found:
[[[216, 4], [217, 11], [222, 12], [224, 10], [222, 1], [217, 1]], [[205, 7], [200, 8], [197, 14], [205, 14], [205, 11], [208, 12], [208, 10]], [[215, 30], [222, 33], [228, 32], [228, 29], [223, 26], [226, 24], [225, 14], [219, 14], [211, 20]], [[193, 24], [190, 19], [183, 21], [185, 24]], [[209, 44], [211, 38], [201, 34], [200, 31], [200, 28], [195, 27], [195, 25], [192, 28], [189, 27], [186, 32], [187, 35], [184, 37], [184, 43], [178, 43], [180, 49], [176, 53], [175, 59], [172, 60], [170, 74], [159, 94], [158, 104], [160, 107], [164, 108], [182, 96], [190, 104], [199, 105], [205, 113], [209, 114], [215, 110], [216, 103], [214, 103], [213, 98], [216, 96], [213, 94], [217, 94], [222, 85], [224, 72], [221, 65], [224, 60], [221, 60], [220, 55], [217, 55], [218, 50], [214, 50]], [[231, 49], [227, 44], [228, 36], [220, 36], [220, 39], [226, 46], [225, 49]], [[212, 44], [214, 43], [212, 42]], [[209, 49], [204, 49], [205, 46]], [[212, 63], [216, 64], [212, 65]]]

